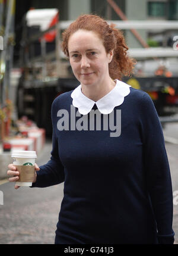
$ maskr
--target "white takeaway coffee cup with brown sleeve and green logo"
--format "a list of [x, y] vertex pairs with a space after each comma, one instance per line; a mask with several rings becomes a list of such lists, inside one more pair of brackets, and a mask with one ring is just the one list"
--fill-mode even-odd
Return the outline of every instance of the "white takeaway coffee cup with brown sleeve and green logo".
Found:
[[17, 186], [31, 186], [34, 179], [34, 164], [37, 158], [36, 151], [12, 151], [13, 164], [19, 171]]

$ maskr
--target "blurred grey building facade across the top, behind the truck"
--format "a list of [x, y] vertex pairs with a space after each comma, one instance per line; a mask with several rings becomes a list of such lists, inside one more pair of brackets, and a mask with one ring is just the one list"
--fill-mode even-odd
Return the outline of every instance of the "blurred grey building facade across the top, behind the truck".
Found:
[[[128, 20], [178, 20], [178, 0], [114, 0]], [[95, 13], [107, 20], [120, 20], [107, 0], [31, 0], [34, 8], [58, 8], [61, 20], [75, 20], [80, 14]], [[150, 46], [171, 46], [175, 31], [139, 30]], [[166, 36], [165, 36], [166, 35]], [[129, 30], [125, 31], [129, 48], [141, 47]]]

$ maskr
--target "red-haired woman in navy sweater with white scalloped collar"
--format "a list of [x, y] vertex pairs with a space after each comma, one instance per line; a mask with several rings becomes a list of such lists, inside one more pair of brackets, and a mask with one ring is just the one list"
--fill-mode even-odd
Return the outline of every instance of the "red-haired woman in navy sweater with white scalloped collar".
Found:
[[81, 85], [53, 101], [51, 158], [36, 166], [32, 186], [65, 182], [55, 243], [174, 242], [163, 131], [150, 96], [120, 81], [134, 68], [127, 50], [97, 15], [63, 32]]

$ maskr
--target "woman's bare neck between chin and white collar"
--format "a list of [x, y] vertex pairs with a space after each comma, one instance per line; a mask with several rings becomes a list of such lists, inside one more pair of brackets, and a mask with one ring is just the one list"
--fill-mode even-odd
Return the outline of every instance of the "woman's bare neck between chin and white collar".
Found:
[[116, 83], [109, 77], [109, 80], [100, 85], [81, 85], [82, 93], [87, 96], [87, 98], [92, 99], [93, 101], [98, 101], [103, 98], [107, 93], [109, 93], [114, 87]]

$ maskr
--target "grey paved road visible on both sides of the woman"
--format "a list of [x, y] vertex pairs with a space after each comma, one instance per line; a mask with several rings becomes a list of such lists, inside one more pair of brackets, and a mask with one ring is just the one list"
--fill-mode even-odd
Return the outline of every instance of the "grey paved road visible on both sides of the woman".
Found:
[[[175, 243], [178, 243], [178, 124], [167, 124], [164, 136], [167, 138], [166, 149], [175, 193], [173, 229], [176, 233]], [[52, 143], [49, 141], [43, 154], [37, 158], [39, 166], [49, 159], [51, 148]], [[49, 188], [22, 187], [15, 190], [14, 184], [7, 182], [0, 185], [0, 191], [4, 193], [4, 205], [0, 205], [1, 244], [54, 243], [63, 183]]]

